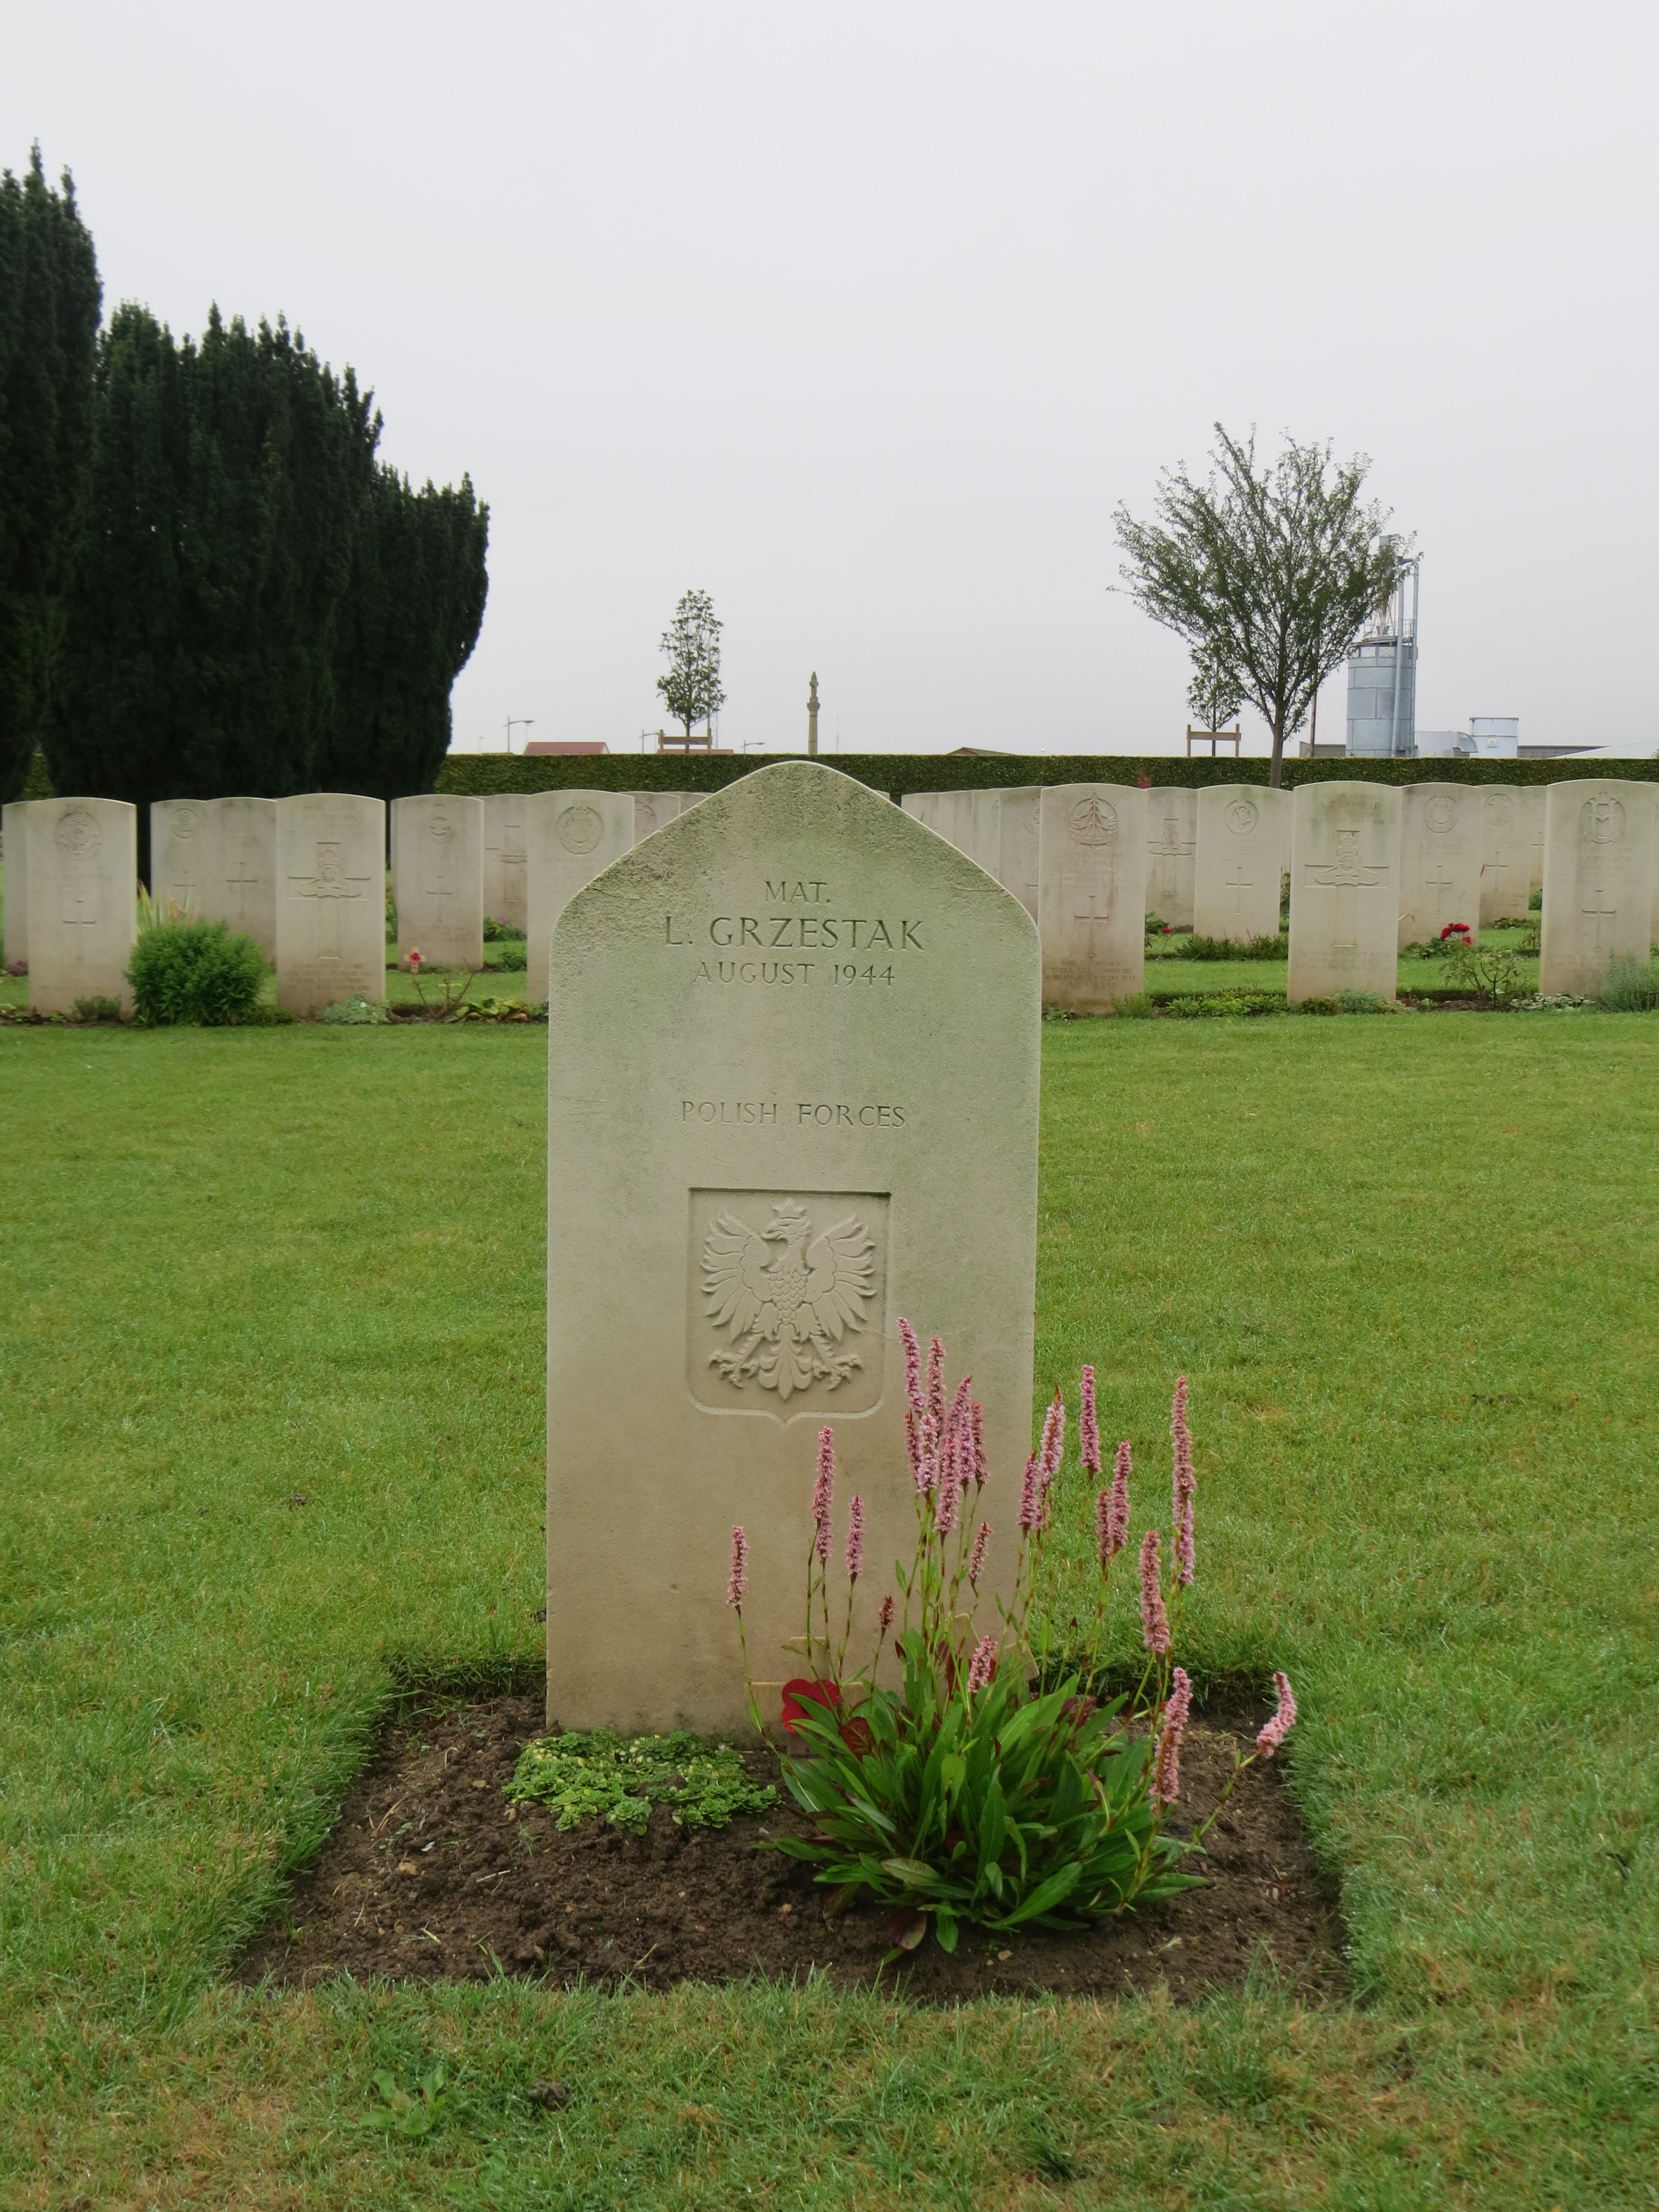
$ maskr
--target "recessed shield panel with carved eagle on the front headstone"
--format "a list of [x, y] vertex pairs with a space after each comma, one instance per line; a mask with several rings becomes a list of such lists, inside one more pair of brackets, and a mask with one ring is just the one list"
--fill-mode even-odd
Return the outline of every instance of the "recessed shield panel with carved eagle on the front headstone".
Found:
[[876, 1405], [883, 1192], [697, 1190], [690, 1239], [688, 1380], [699, 1405], [776, 1420]]

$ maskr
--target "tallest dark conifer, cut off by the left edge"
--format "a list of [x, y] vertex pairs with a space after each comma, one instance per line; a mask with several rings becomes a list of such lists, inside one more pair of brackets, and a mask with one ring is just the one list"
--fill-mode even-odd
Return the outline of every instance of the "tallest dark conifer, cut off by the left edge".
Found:
[[51, 695], [88, 480], [97, 257], [69, 170], [40, 146], [0, 173], [0, 799], [29, 774]]

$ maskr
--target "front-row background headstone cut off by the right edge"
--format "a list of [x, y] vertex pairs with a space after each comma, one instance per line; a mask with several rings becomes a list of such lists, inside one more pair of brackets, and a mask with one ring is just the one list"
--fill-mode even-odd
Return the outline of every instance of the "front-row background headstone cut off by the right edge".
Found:
[[1652, 942], [1655, 785], [1617, 776], [1544, 792], [1540, 991], [1593, 998], [1621, 953]]

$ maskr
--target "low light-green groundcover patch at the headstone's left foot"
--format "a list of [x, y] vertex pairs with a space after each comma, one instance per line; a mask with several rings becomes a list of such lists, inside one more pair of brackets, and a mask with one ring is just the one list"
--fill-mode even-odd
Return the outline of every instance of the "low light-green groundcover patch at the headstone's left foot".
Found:
[[518, 1754], [507, 1785], [513, 1803], [557, 1805], [557, 1827], [604, 1816], [644, 1836], [653, 1805], [668, 1805], [684, 1827], [726, 1827], [741, 1812], [768, 1812], [776, 1790], [752, 1783], [730, 1743], [703, 1743], [686, 1728], [672, 1736], [538, 1736]]

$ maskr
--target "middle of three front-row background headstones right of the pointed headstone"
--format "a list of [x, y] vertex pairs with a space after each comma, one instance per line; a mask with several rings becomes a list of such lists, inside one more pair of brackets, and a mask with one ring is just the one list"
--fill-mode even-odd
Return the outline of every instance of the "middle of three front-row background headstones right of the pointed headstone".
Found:
[[1292, 794], [1292, 1006], [1336, 991], [1394, 998], [1400, 951], [1400, 794], [1301, 783]]

